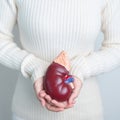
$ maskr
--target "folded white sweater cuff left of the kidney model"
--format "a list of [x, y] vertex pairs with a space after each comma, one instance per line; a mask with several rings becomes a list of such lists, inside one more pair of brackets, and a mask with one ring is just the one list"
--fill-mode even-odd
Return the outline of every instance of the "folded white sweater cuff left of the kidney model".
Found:
[[29, 54], [21, 64], [21, 73], [25, 78], [30, 78], [34, 83], [38, 78], [43, 77], [49, 62]]

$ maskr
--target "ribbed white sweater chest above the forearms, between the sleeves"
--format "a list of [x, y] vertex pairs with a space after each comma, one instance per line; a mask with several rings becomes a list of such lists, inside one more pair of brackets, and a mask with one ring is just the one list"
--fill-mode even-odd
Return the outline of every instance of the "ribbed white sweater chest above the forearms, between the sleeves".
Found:
[[94, 50], [103, 0], [16, 0], [24, 49], [51, 61], [62, 50], [70, 59]]

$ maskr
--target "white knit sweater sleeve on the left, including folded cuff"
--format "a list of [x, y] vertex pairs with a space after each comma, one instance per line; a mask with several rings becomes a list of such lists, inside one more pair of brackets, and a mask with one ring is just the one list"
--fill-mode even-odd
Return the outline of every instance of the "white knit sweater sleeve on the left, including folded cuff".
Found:
[[19, 70], [25, 78], [30, 78], [34, 83], [44, 75], [49, 63], [17, 46], [12, 34], [16, 19], [15, 0], [0, 0], [0, 63]]

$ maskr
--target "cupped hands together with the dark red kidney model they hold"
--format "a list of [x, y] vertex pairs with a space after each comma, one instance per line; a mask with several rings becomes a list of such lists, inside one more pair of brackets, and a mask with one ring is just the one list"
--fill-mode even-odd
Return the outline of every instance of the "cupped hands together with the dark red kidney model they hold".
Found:
[[71, 108], [78, 97], [82, 82], [69, 75], [70, 62], [62, 51], [48, 67], [44, 77], [34, 82], [34, 89], [43, 107], [59, 112]]

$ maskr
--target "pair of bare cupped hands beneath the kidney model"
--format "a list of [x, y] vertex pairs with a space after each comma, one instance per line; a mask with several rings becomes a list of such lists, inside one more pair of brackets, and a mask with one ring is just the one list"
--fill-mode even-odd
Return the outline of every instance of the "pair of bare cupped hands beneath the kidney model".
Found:
[[34, 83], [34, 89], [36, 92], [36, 96], [38, 100], [41, 102], [42, 106], [45, 106], [48, 110], [59, 112], [63, 111], [64, 109], [71, 108], [75, 104], [75, 98], [77, 98], [80, 89], [82, 87], [82, 82], [74, 77], [73, 82], [73, 93], [70, 96], [68, 101], [65, 102], [58, 102], [54, 99], [52, 99], [44, 90], [43, 90], [43, 78], [39, 78]]

